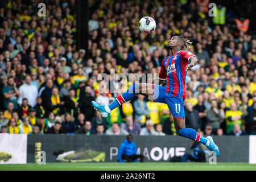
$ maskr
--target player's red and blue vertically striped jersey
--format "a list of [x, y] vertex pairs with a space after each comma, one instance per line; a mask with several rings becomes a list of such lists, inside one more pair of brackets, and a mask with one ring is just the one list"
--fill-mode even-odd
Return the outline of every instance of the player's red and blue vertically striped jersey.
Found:
[[158, 78], [160, 80], [167, 79], [166, 93], [182, 99], [186, 98], [186, 66], [193, 56], [195, 55], [190, 51], [181, 50], [163, 59]]

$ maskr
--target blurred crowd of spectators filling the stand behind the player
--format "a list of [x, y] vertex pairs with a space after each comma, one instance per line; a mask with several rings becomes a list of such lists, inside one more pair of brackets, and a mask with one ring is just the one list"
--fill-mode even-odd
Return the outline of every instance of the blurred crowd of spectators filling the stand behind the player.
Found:
[[[112, 68], [130, 80], [135, 73], [157, 77], [168, 40], [181, 35], [199, 59], [187, 72], [186, 127], [205, 135], [256, 134], [255, 24], [236, 24], [251, 19], [249, 3], [241, 5], [246, 14], [218, 5], [226, 11], [216, 20], [203, 0], [89, 1], [88, 48], [77, 49], [75, 0], [46, 1], [43, 18], [39, 2], [1, 2], [2, 133], [176, 135], [166, 104], [138, 95], [102, 118], [91, 101], [108, 105], [131, 85], [121, 87], [114, 76], [102, 87], [98, 76]], [[143, 16], [156, 20], [151, 34], [138, 30]]]

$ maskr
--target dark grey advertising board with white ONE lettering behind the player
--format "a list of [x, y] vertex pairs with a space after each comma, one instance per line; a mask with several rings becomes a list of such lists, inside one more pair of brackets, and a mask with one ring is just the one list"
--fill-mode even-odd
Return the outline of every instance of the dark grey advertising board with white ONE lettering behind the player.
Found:
[[[28, 135], [27, 163], [40, 158], [46, 152], [46, 162], [117, 162], [118, 148], [126, 136], [98, 135]], [[174, 156], [191, 154], [192, 140], [179, 136], [134, 136], [137, 152], [144, 154], [145, 162], [169, 162]], [[220, 148], [217, 162], [249, 162], [249, 137], [214, 137]], [[256, 138], [250, 142], [255, 146]], [[255, 147], [250, 151], [255, 159]], [[253, 157], [252, 157], [253, 156]]]

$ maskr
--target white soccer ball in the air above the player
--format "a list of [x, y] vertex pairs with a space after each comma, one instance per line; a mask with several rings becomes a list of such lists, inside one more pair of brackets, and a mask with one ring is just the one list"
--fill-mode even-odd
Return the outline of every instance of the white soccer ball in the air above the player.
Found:
[[150, 16], [145, 16], [141, 20], [139, 20], [139, 30], [146, 34], [154, 32], [155, 26], [155, 20]]

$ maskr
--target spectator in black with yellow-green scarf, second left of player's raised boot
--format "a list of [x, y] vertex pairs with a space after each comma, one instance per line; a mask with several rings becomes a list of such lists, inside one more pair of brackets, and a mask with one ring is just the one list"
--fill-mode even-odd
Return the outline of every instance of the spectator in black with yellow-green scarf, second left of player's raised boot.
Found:
[[76, 97], [76, 90], [69, 89], [68, 97], [64, 99], [64, 107], [67, 109], [68, 113], [71, 113], [72, 117], [77, 117], [79, 114], [79, 97]]

